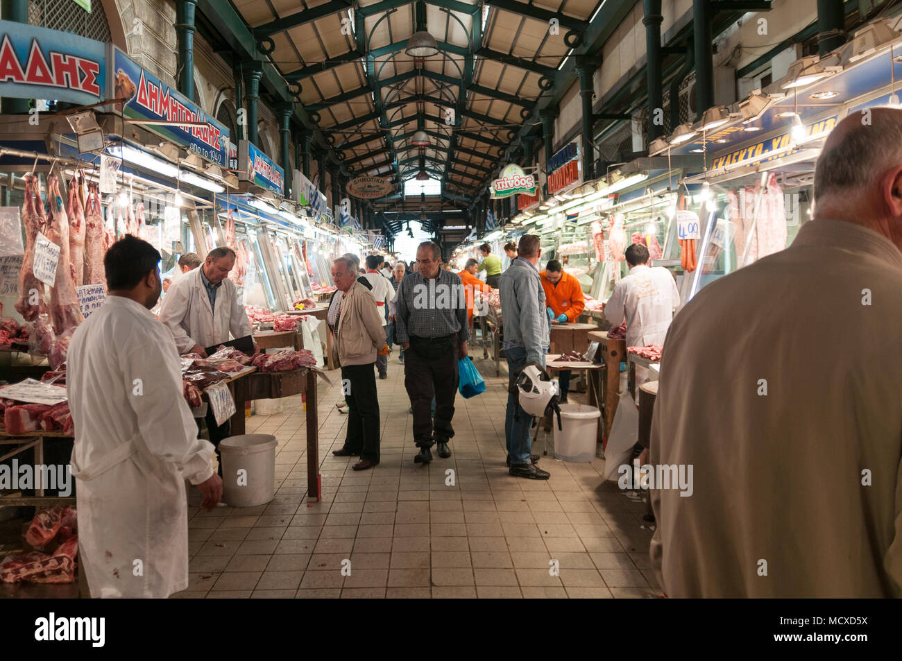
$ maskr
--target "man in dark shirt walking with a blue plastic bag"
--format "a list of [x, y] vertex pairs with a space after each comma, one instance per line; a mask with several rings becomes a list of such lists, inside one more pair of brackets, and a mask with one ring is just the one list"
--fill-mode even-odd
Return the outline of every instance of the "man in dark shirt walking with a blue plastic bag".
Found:
[[[438, 456], [451, 456], [454, 436], [454, 400], [457, 360], [466, 357], [469, 328], [466, 299], [460, 276], [441, 268], [441, 252], [427, 241], [417, 248], [419, 271], [401, 280], [395, 317], [397, 342], [404, 348], [404, 386], [413, 409], [413, 438], [419, 447], [418, 464]], [[435, 427], [430, 409], [436, 398]], [[433, 438], [433, 432], [435, 438]]]

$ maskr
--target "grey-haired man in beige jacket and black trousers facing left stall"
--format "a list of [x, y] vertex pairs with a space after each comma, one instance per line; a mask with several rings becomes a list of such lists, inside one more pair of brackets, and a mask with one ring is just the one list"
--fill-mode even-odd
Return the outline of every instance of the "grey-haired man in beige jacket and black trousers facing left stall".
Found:
[[345, 445], [336, 456], [360, 455], [355, 471], [379, 464], [379, 397], [373, 364], [385, 344], [384, 317], [369, 289], [357, 280], [354, 262], [339, 257], [332, 264], [332, 280], [338, 290], [329, 303], [327, 322], [332, 349], [341, 366], [342, 390], [348, 408]]

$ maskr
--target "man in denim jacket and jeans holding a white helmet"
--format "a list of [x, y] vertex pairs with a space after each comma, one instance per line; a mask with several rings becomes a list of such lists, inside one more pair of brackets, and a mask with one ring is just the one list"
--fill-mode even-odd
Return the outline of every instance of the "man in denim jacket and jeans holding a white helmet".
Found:
[[520, 256], [502, 273], [498, 283], [504, 312], [504, 355], [509, 375], [504, 438], [507, 442], [511, 475], [530, 480], [548, 480], [549, 473], [534, 463], [538, 457], [529, 455], [532, 416], [520, 407], [520, 394], [514, 386], [520, 370], [527, 363], [538, 363], [545, 367], [545, 353], [548, 351], [548, 314], [545, 311], [545, 291], [542, 289], [537, 266], [542, 254], [542, 249], [538, 247], [538, 236], [521, 236], [519, 249]]

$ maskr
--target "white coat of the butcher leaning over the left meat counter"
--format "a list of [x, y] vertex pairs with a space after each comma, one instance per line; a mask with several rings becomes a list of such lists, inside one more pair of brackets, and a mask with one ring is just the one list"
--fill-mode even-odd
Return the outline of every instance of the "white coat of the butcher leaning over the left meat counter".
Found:
[[235, 283], [226, 278], [216, 289], [216, 315], [210, 308], [207, 288], [200, 279], [198, 267], [174, 283], [160, 308], [160, 321], [169, 327], [179, 353], [188, 353], [192, 346], [213, 346], [228, 342], [232, 337], [252, 335], [244, 306], [238, 302]]

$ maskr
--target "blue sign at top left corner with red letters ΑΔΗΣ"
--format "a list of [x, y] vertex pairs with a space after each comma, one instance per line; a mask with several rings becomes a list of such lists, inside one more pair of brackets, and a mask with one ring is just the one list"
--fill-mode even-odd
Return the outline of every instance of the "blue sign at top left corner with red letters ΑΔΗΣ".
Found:
[[0, 21], [0, 96], [88, 106], [106, 96], [106, 44]]

